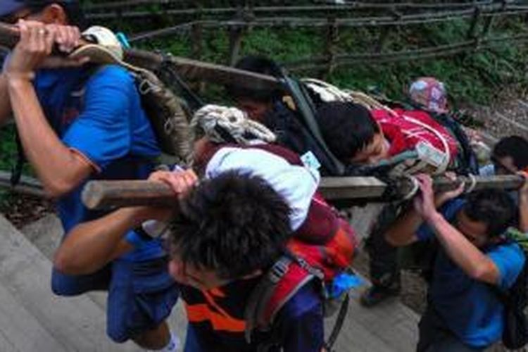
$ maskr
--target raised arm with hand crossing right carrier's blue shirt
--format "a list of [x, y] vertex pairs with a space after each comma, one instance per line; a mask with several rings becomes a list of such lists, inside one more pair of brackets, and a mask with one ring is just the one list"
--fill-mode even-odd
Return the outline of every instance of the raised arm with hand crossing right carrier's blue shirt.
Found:
[[449, 258], [469, 277], [488, 284], [498, 284], [501, 275], [493, 260], [436, 210], [431, 177], [420, 177], [419, 181], [422, 192], [415, 201], [415, 210], [435, 232]]

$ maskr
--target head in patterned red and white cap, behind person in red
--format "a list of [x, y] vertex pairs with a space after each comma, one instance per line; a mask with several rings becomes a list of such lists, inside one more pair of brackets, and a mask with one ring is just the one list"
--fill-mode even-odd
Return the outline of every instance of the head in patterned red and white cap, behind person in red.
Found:
[[420, 77], [410, 84], [409, 97], [413, 103], [433, 113], [446, 113], [447, 92], [443, 82], [434, 77]]

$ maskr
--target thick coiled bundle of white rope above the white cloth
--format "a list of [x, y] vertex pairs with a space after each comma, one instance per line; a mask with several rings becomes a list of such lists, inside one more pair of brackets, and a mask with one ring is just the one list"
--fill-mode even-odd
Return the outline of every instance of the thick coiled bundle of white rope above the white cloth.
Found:
[[[227, 106], [207, 105], [194, 113], [191, 127], [201, 127], [206, 136], [213, 142], [231, 142], [225, 140], [227, 132], [239, 144], [253, 144], [256, 140], [275, 142], [277, 137], [268, 127], [250, 120], [244, 111]], [[220, 128], [218, 128], [220, 127]]]

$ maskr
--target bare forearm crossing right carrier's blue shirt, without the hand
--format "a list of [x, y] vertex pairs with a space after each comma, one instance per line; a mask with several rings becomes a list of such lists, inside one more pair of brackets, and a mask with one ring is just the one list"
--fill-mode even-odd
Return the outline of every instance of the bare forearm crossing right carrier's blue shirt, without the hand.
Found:
[[499, 272], [494, 262], [440, 213], [430, 216], [427, 223], [436, 233], [436, 238], [439, 239], [449, 258], [469, 277], [489, 284], [498, 282]]

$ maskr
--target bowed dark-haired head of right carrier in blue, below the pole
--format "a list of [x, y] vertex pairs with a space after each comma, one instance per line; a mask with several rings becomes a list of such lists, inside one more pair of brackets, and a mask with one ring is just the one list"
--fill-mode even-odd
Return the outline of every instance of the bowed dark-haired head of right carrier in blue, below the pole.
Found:
[[516, 218], [517, 207], [506, 191], [484, 189], [467, 196], [458, 212], [456, 227], [472, 244], [482, 248], [515, 225]]

